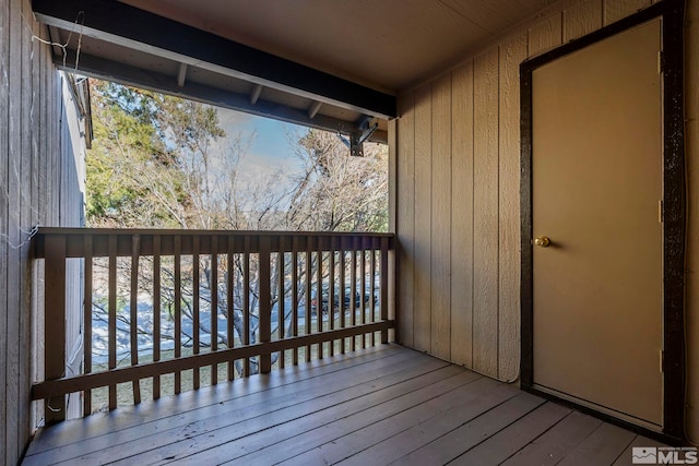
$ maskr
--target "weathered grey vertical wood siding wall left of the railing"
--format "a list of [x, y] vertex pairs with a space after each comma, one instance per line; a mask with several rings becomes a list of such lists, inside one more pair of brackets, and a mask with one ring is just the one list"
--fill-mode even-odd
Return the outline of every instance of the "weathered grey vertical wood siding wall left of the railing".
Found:
[[[48, 32], [28, 0], [0, 0], [0, 464], [17, 464], [36, 422], [29, 402], [43, 328], [42, 271], [29, 260], [37, 225], [75, 225], [80, 184], [61, 140], [61, 83]], [[72, 171], [72, 175], [71, 175]]]

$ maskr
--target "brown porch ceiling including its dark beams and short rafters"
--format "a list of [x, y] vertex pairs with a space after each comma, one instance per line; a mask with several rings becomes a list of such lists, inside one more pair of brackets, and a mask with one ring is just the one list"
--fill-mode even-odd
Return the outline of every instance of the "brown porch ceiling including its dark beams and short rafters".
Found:
[[[59, 67], [343, 133], [552, 0], [34, 0]], [[82, 13], [81, 13], [82, 12]], [[79, 59], [76, 50], [80, 48]], [[262, 71], [260, 71], [262, 70]]]

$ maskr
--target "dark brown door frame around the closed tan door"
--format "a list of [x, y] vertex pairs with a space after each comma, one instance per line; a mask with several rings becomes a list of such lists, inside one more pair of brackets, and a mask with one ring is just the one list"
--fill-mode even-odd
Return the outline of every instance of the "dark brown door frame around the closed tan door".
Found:
[[[684, 0], [663, 0], [520, 65], [521, 106], [521, 387], [555, 398], [627, 429], [665, 442], [685, 439]], [[663, 40], [663, 430], [650, 431], [534, 387], [534, 276], [532, 229], [532, 75], [537, 68], [629, 28], [662, 17]]]

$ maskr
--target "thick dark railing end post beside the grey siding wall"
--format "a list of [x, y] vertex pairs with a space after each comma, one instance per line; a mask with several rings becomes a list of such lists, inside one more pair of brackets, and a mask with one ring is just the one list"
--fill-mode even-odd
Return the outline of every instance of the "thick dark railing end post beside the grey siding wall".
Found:
[[[66, 372], [66, 237], [46, 237], [44, 297], [44, 380], [61, 379]], [[45, 423], [66, 420], [66, 395], [44, 402]]]

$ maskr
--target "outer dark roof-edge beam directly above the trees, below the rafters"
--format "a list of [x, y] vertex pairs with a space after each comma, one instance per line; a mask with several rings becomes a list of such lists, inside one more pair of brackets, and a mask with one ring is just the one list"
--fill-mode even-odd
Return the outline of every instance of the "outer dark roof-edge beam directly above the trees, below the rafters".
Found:
[[[59, 69], [75, 72], [75, 68], [70, 65], [70, 63], [74, 62], [74, 53], [75, 52], [72, 50], [68, 51], [67, 63], [69, 63], [69, 65], [63, 65], [63, 58], [61, 56], [54, 56], [54, 63]], [[78, 72], [100, 80], [171, 94], [201, 101], [203, 104], [215, 105], [230, 110], [245, 111], [247, 113], [257, 115], [258, 117], [272, 118], [287, 123], [303, 124], [319, 130], [332, 131], [335, 133], [340, 132], [342, 134], [350, 134], [358, 130], [352, 122], [324, 115], [317, 115], [316, 118], [309, 118], [308, 110], [306, 109], [295, 109], [263, 99], [258, 99], [256, 104], [251, 104], [250, 96], [247, 94], [238, 94], [217, 87], [198, 84], [191, 80], [183, 83], [180, 87], [173, 82], [171, 75], [145, 71], [140, 68], [125, 65], [87, 53], [80, 55]], [[388, 143], [388, 133], [386, 131], [376, 131], [370, 141]]]

